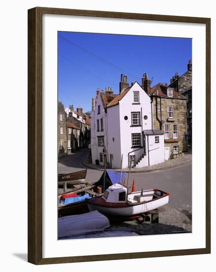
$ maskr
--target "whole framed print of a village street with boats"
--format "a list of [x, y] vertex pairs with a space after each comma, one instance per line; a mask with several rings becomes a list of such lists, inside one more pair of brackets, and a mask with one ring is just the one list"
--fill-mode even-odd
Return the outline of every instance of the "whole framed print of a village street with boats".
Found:
[[210, 26], [28, 11], [30, 263], [211, 252]]

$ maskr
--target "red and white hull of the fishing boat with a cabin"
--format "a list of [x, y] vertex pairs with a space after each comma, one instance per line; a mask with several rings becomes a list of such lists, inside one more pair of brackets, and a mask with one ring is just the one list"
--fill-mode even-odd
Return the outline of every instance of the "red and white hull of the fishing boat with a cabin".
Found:
[[89, 200], [87, 206], [89, 211], [95, 211], [107, 216], [133, 216], [143, 214], [159, 207], [166, 205], [169, 202], [169, 194], [162, 197], [145, 201], [142, 203], [132, 204], [127, 203], [106, 203], [105, 201], [95, 201], [96, 199]]

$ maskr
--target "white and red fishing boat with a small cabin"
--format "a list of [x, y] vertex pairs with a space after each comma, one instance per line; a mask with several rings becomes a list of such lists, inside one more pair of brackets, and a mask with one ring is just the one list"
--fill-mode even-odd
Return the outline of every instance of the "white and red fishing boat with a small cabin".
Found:
[[87, 201], [89, 211], [108, 216], [133, 216], [155, 210], [169, 202], [169, 193], [160, 189], [129, 193], [122, 183], [109, 186], [104, 194]]

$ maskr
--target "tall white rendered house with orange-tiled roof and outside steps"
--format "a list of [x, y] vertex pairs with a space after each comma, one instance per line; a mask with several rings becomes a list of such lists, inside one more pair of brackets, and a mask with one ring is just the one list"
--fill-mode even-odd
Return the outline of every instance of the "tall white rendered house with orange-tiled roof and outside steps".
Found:
[[137, 82], [119, 95], [98, 93], [91, 112], [92, 163], [104, 164], [104, 146], [110, 168], [121, 168], [122, 155], [123, 168], [165, 161], [164, 133], [153, 129], [151, 98]]

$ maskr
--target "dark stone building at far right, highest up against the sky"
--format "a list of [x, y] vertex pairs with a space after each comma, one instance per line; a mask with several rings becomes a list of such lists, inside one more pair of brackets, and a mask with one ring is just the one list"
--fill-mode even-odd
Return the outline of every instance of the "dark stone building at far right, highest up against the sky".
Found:
[[192, 60], [189, 60], [187, 64], [187, 71], [178, 76], [178, 73], [175, 73], [175, 76], [170, 80], [171, 84], [169, 87], [173, 88], [174, 91], [182, 93], [186, 91], [188, 88], [192, 87]]

